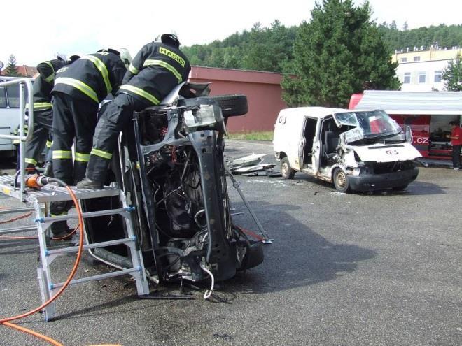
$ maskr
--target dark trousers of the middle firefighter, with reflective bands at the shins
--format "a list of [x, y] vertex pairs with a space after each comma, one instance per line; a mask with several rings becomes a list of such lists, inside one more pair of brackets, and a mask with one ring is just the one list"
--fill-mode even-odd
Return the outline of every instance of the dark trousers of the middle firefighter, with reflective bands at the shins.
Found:
[[[85, 176], [97, 123], [98, 103], [55, 92], [53, 105], [53, 175], [73, 185]], [[75, 161], [72, 162], [72, 144]]]

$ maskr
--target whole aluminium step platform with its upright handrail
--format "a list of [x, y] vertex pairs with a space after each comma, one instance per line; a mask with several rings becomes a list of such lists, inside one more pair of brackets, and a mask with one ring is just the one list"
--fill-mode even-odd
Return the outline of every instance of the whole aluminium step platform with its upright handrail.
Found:
[[[56, 249], [48, 249], [47, 234], [50, 233], [50, 226], [53, 222], [76, 219], [77, 215], [62, 215], [58, 217], [49, 217], [47, 215], [48, 203], [55, 201], [71, 201], [71, 196], [64, 187], [58, 187], [55, 185], [46, 185], [40, 190], [27, 189], [25, 185], [25, 157], [22, 154], [25, 152], [25, 142], [29, 140], [34, 131], [34, 104], [32, 97], [32, 84], [27, 78], [18, 80], [11, 80], [8, 82], [1, 82], [0, 87], [6, 87], [7, 85], [18, 84], [20, 88], [20, 134], [15, 135], [3, 135], [0, 134], [0, 138], [6, 138], [11, 140], [20, 140], [20, 171], [15, 176], [1, 175], [0, 176], [0, 193], [11, 196], [15, 199], [19, 199], [22, 202], [27, 203], [28, 207], [20, 208], [6, 208], [0, 210], [1, 214], [24, 212], [29, 210], [35, 211], [35, 224], [29, 226], [16, 226], [7, 229], [1, 229], [0, 234], [15, 233], [23, 231], [36, 230], [38, 233], [38, 243], [40, 245], [40, 259], [41, 265], [37, 269], [38, 282], [41, 289], [42, 302], [48, 301], [59, 289], [62, 287], [64, 282], [53, 282], [50, 270], [50, 264], [58, 256], [63, 254], [69, 254], [72, 252], [78, 252], [77, 246], [62, 247]], [[29, 93], [28, 104], [29, 104], [29, 132], [25, 135], [25, 86]], [[72, 188], [72, 187], [71, 187]], [[88, 282], [90, 280], [101, 280], [109, 277], [116, 277], [120, 275], [132, 275], [137, 285], [137, 293], [139, 296], [149, 294], [148, 281], [146, 279], [146, 273], [144, 271], [144, 262], [141, 249], [139, 249], [137, 238], [134, 234], [132, 212], [134, 207], [129, 206], [125, 194], [120, 189], [114, 187], [104, 187], [100, 190], [79, 190], [75, 187], [72, 188], [76, 198], [81, 201], [83, 199], [95, 199], [99, 197], [111, 197], [119, 196], [120, 202], [123, 208], [100, 210], [95, 212], [84, 212], [83, 218], [97, 217], [102, 215], [121, 215], [125, 220], [127, 237], [123, 239], [110, 240], [101, 243], [89, 243], [85, 231], [85, 225], [81, 225], [80, 236], [85, 236], [86, 244], [83, 246], [84, 250], [91, 250], [97, 247], [106, 247], [111, 245], [125, 244], [130, 249], [130, 258], [132, 260], [132, 268], [121, 268], [111, 273], [104, 273], [100, 275], [93, 275], [88, 277], [82, 277], [71, 280], [69, 284], [78, 284]], [[42, 207], [41, 203], [45, 204], [45, 208]], [[33, 207], [30, 207], [30, 206]], [[56, 316], [56, 303], [53, 301], [43, 309], [43, 316], [46, 321]]]

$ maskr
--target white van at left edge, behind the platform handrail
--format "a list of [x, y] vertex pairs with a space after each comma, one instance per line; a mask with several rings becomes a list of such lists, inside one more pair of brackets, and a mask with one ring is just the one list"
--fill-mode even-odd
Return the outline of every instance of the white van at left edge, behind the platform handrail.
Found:
[[[24, 77], [21, 77], [24, 78]], [[0, 75], [0, 82], [21, 79], [18, 77], [6, 77]], [[27, 88], [25, 88], [25, 99], [27, 100]], [[0, 87], [0, 134], [10, 135], [20, 124], [19, 106], [20, 95], [18, 85]], [[0, 154], [9, 157], [15, 155], [13, 140], [0, 138]]]

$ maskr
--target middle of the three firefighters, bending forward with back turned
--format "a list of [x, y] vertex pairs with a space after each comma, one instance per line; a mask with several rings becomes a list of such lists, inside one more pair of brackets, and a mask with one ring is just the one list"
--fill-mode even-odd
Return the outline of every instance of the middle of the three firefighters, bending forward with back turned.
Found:
[[[120, 52], [113, 49], [99, 50], [84, 55], [57, 72], [52, 89], [53, 107], [53, 175], [74, 185], [85, 176], [90, 158], [92, 137], [97, 124], [99, 103], [109, 94], [116, 94], [127, 71]], [[75, 145], [75, 161], [71, 146]], [[66, 215], [71, 203], [51, 203], [52, 216]], [[53, 222], [55, 237], [69, 233], [66, 221]]]

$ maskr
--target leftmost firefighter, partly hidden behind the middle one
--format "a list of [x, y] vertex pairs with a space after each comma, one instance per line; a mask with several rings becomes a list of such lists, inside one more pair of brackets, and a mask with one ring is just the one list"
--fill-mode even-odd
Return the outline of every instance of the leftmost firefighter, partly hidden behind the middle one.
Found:
[[[58, 53], [57, 59], [41, 62], [37, 66], [38, 77], [34, 80], [34, 132], [26, 143], [25, 162], [28, 167], [35, 167], [44, 148], [50, 152], [52, 141], [52, 105], [51, 91], [55, 83], [55, 74], [66, 64], [71, 64], [79, 56], [66, 56]], [[51, 152], [50, 152], [51, 154]], [[51, 155], [47, 155], [47, 175], [50, 175]]]

